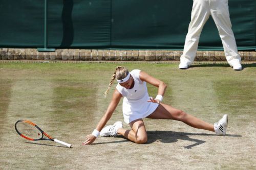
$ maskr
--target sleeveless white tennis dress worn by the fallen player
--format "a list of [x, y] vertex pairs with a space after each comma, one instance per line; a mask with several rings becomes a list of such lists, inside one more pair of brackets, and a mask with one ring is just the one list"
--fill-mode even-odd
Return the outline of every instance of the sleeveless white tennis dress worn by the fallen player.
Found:
[[158, 107], [158, 103], [147, 102], [148, 96], [146, 82], [140, 80], [140, 70], [134, 69], [130, 72], [134, 79], [134, 87], [126, 89], [119, 83], [116, 89], [122, 94], [123, 99], [123, 118], [126, 124], [133, 120], [144, 118], [153, 113]]

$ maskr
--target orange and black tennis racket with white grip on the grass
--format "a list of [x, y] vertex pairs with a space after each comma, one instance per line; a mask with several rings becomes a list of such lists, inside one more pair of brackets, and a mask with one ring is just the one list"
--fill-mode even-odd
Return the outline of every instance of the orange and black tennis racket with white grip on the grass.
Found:
[[[20, 136], [28, 140], [51, 140], [71, 148], [71, 144], [54, 139], [29, 120], [18, 120], [15, 124], [15, 130]], [[44, 138], [44, 135], [47, 138]]]

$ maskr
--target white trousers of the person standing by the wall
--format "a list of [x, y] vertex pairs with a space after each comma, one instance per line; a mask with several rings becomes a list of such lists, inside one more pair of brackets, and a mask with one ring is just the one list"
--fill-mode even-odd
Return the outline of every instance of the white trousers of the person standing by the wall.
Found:
[[218, 28], [219, 35], [223, 44], [225, 56], [230, 66], [234, 62], [241, 62], [238, 54], [236, 40], [231, 29], [231, 21], [228, 11], [228, 0], [193, 0], [191, 12], [191, 21], [186, 35], [181, 62], [191, 65], [195, 59], [200, 34], [202, 29], [211, 15]]

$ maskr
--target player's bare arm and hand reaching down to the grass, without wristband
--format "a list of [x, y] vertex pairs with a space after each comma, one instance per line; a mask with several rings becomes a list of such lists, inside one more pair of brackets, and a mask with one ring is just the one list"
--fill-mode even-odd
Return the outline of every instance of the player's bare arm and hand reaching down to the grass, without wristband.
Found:
[[[113, 96], [112, 96], [112, 100], [109, 104], [109, 107], [97, 125], [96, 130], [98, 132], [100, 132], [103, 129], [103, 127], [106, 125], [106, 123], [109, 121], [112, 114], [116, 110], [116, 107], [117, 107], [118, 103], [120, 102], [121, 98], [122, 98], [122, 95], [117, 91], [117, 89], [115, 89]], [[95, 139], [96, 139], [96, 136], [94, 136], [93, 134], [87, 135], [86, 141], [84, 141], [82, 144], [83, 145], [91, 144], [94, 142]]]

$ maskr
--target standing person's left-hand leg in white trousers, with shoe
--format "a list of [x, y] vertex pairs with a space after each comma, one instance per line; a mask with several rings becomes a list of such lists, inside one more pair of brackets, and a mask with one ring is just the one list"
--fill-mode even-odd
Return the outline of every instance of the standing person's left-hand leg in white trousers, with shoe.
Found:
[[196, 57], [200, 34], [210, 15], [208, 0], [194, 0], [191, 12], [191, 21], [184, 44], [183, 54], [180, 57], [180, 68], [186, 69]]

